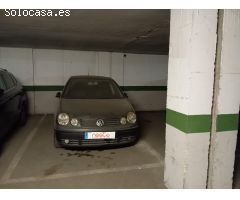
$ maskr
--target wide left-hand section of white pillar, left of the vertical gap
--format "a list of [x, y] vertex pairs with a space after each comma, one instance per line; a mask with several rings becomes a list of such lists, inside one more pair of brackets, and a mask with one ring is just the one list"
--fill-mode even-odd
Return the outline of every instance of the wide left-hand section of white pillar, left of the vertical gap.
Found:
[[164, 181], [206, 188], [217, 10], [171, 10]]

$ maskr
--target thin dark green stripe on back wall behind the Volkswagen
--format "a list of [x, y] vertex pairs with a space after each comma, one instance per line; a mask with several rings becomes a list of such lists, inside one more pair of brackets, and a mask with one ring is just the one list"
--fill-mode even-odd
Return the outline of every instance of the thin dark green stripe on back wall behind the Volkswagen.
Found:
[[[61, 91], [63, 85], [23, 86], [26, 91]], [[167, 86], [120, 86], [124, 91], [167, 91]]]

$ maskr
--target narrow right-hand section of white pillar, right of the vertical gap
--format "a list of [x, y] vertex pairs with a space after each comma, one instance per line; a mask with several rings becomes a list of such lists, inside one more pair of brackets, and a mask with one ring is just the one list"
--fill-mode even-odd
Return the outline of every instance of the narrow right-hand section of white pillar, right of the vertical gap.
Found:
[[220, 10], [208, 188], [232, 188], [240, 103], [240, 10]]

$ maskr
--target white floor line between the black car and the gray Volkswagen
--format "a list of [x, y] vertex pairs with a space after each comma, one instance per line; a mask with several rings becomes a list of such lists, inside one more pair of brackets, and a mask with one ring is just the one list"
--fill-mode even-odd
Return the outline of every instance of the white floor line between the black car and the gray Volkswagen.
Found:
[[36, 134], [36, 132], [38, 131], [40, 125], [42, 124], [43, 120], [45, 119], [46, 115], [44, 115], [39, 122], [37, 123], [36, 127], [30, 132], [30, 134], [28, 135], [28, 137], [24, 140], [23, 144], [21, 145], [21, 147], [18, 149], [17, 153], [15, 154], [15, 156], [13, 157], [12, 161], [10, 162], [6, 172], [4, 173], [4, 175], [2, 176], [0, 182], [4, 183], [7, 182], [8, 179], [11, 177], [13, 171], [15, 170], [15, 168], [17, 167], [19, 161], [22, 159], [22, 156], [24, 154], [24, 152], [26, 151], [29, 143], [32, 141], [34, 135]]

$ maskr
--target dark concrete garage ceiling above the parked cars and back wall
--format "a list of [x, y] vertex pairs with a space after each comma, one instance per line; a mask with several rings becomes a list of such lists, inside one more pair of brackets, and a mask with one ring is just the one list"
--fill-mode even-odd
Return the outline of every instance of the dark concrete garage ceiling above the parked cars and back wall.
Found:
[[69, 17], [0, 14], [0, 46], [168, 54], [170, 10], [70, 10]]

